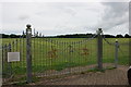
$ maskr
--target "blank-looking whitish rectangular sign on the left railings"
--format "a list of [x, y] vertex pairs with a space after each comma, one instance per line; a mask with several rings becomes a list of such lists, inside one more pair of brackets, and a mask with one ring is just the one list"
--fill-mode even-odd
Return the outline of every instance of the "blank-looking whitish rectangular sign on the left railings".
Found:
[[20, 52], [8, 52], [8, 62], [20, 61]]

